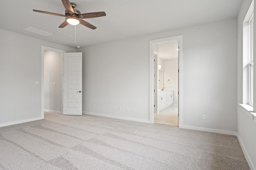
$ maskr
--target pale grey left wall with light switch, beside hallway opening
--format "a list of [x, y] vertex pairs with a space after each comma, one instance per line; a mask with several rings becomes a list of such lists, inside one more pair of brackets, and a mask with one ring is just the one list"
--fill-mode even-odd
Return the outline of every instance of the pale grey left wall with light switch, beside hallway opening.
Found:
[[4, 29], [0, 37], [0, 126], [42, 119], [41, 47], [76, 49]]

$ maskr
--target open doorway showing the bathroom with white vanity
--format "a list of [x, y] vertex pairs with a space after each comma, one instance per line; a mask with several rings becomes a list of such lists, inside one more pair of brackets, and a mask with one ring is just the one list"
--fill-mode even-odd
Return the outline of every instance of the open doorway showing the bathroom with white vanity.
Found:
[[154, 123], [178, 126], [178, 42], [154, 45], [154, 54], [157, 54], [154, 55], [157, 61], [154, 74], [158, 80]]

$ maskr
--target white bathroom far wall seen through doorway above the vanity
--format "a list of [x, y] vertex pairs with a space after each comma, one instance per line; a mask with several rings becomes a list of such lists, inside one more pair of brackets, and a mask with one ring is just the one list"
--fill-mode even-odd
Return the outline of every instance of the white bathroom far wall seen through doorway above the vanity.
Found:
[[178, 105], [178, 59], [164, 60], [164, 86], [173, 88], [173, 104]]

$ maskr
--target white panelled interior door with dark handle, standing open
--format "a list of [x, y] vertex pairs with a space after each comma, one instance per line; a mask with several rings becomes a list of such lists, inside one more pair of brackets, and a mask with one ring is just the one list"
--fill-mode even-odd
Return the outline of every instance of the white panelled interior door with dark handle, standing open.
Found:
[[63, 53], [63, 115], [82, 115], [82, 53]]

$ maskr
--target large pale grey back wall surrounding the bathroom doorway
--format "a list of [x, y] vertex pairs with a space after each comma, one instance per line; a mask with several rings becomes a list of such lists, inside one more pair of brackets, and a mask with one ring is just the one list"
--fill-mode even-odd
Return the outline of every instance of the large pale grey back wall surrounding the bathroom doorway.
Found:
[[148, 121], [149, 41], [176, 35], [183, 35], [183, 125], [236, 132], [236, 18], [79, 49], [84, 113]]

